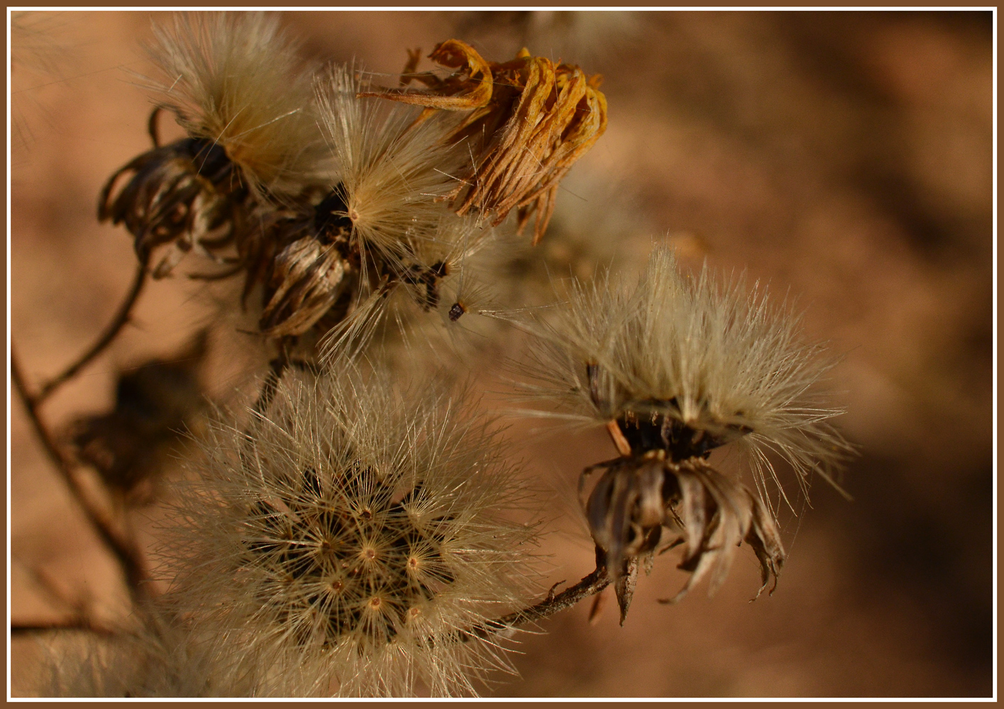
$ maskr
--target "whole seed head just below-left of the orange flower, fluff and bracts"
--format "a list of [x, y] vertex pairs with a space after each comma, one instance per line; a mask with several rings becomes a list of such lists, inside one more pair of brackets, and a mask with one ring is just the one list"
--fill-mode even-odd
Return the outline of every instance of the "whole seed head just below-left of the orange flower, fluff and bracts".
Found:
[[490, 234], [437, 204], [463, 159], [445, 139], [448, 125], [415, 125], [415, 109], [359, 98], [361, 88], [349, 67], [316, 81], [330, 187], [265, 230], [266, 243], [283, 245], [261, 319], [270, 336], [315, 323], [327, 331], [356, 308], [367, 316], [402, 286], [423, 310], [436, 308], [440, 282]]

